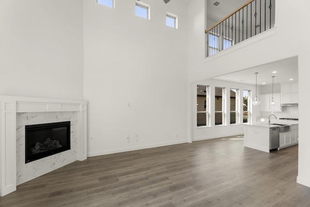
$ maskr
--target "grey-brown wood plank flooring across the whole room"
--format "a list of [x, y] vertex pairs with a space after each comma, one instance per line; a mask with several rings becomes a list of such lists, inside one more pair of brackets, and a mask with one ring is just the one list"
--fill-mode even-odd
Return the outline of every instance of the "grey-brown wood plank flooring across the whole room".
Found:
[[17, 186], [1, 207], [309, 207], [298, 145], [265, 153], [241, 136], [76, 161]]

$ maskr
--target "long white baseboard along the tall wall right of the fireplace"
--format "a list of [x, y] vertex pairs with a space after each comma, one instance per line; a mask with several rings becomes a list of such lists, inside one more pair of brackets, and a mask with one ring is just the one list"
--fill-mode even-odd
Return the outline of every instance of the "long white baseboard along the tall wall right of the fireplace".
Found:
[[148, 144], [148, 145], [135, 146], [135, 147], [126, 147], [126, 148], [119, 148], [119, 149], [104, 150], [104, 151], [99, 151], [99, 152], [89, 152], [87, 157], [109, 155], [109, 154], [114, 154], [114, 153], [129, 152], [129, 151], [135, 151], [135, 150], [140, 150], [140, 149], [149, 149], [149, 148], [154, 148], [154, 147], [168, 146], [168, 145], [181, 144], [181, 143], [188, 143], [188, 141], [187, 140], [180, 140], [180, 141], [169, 142], [169, 143]]

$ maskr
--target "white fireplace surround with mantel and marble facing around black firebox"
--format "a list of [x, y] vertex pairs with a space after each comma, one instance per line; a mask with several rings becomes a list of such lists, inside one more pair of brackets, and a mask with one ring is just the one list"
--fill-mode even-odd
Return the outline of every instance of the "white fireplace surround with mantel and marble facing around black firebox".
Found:
[[[76, 160], [87, 159], [87, 102], [0, 96], [0, 196]], [[71, 149], [25, 164], [25, 125], [70, 121]]]

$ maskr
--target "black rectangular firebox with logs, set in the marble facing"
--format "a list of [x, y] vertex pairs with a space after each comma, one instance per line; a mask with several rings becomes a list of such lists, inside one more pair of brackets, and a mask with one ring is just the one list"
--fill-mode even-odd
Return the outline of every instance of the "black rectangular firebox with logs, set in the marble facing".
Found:
[[25, 126], [25, 163], [70, 149], [70, 121]]

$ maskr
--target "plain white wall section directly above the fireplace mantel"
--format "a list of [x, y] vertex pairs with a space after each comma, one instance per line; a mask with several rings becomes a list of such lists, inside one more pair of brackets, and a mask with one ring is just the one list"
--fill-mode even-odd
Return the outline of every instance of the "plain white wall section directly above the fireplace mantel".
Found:
[[0, 1], [0, 95], [83, 98], [82, 0]]

